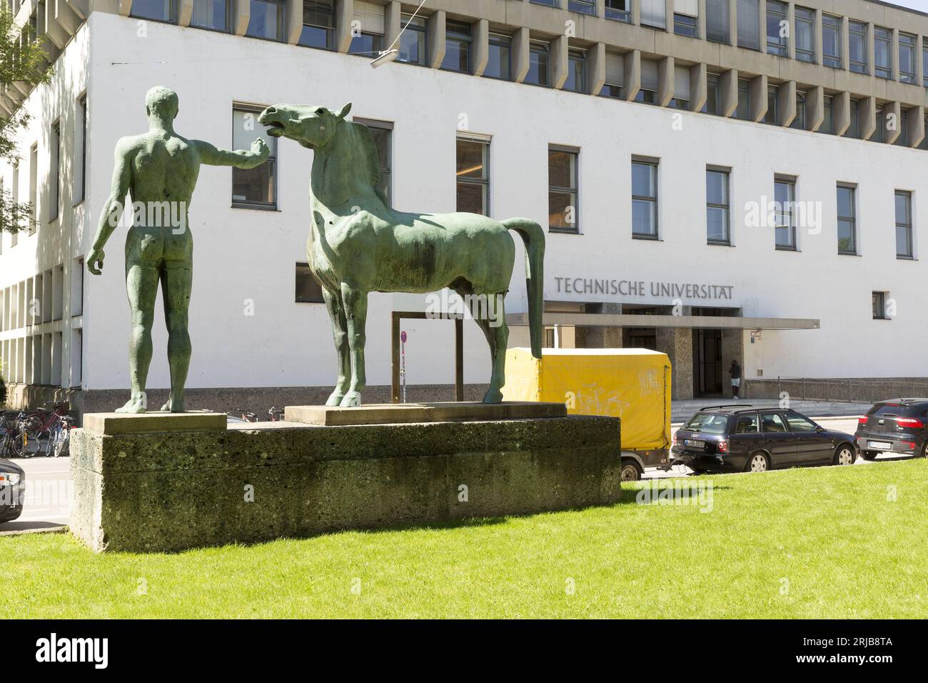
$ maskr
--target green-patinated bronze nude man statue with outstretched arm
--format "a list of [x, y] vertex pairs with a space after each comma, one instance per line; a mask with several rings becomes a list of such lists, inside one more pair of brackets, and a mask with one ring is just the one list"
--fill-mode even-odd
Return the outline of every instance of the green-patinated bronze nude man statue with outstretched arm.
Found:
[[151, 325], [161, 283], [164, 319], [168, 328], [171, 395], [162, 411], [184, 412], [184, 385], [190, 365], [187, 309], [193, 279], [193, 237], [187, 207], [197, 184], [200, 164], [254, 168], [269, 153], [261, 138], [251, 151], [227, 151], [202, 140], [188, 140], [174, 132], [177, 94], [153, 87], [145, 99], [148, 132], [120, 138], [116, 144], [110, 198], [103, 207], [87, 269], [103, 268], [103, 247], [122, 216], [128, 192], [133, 200], [133, 224], [125, 241], [125, 282], [132, 309], [129, 374], [132, 396], [117, 413], [145, 413], [146, 380], [151, 362]]

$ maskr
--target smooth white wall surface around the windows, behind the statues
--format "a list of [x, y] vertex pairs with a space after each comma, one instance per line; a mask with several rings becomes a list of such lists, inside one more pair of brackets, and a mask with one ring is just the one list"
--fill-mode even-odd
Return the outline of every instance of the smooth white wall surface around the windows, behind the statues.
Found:
[[[233, 101], [322, 104], [354, 102], [354, 116], [394, 122], [393, 197], [397, 208], [455, 208], [455, 132], [493, 136], [493, 216], [548, 214], [548, 143], [581, 148], [582, 235], [548, 235], [546, 297], [669, 304], [640, 297], [565, 295], [555, 277], [583, 276], [730, 284], [731, 302], [684, 299], [686, 305], [743, 307], [745, 315], [817, 318], [820, 330], [764, 332], [745, 339], [745, 376], [928, 376], [928, 360], [887, 348], [920, 348], [921, 261], [896, 259], [894, 190], [914, 192], [916, 256], [928, 225], [924, 164], [928, 152], [677, 112], [530, 85], [389, 64], [250, 38], [94, 13], [90, 73], [91, 149], [88, 188], [93, 221], [106, 200], [111, 150], [123, 135], [146, 128], [144, 98], [152, 85], [180, 97], [178, 132], [228, 146]], [[115, 63], [115, 64], [114, 64]], [[659, 157], [661, 241], [631, 238], [630, 160]], [[304, 258], [311, 152], [282, 140], [279, 211], [232, 209], [231, 170], [203, 167], [190, 217], [195, 235], [191, 306], [194, 358], [190, 387], [330, 384], [335, 356], [321, 305], [293, 303], [293, 263]], [[706, 164], [732, 168], [733, 247], [705, 243]], [[797, 200], [823, 207], [819, 234], [802, 232], [798, 253], [774, 249], [772, 229], [744, 226], [743, 207], [773, 198], [775, 173], [799, 177]], [[838, 256], [835, 183], [856, 182], [862, 256]], [[8, 187], [8, 185], [7, 185]], [[23, 190], [25, 191], [25, 190]], [[89, 251], [93, 228], [84, 231]], [[104, 275], [85, 279], [84, 386], [125, 387], [128, 306], [122, 282], [124, 231], [113, 235]], [[525, 310], [522, 248], [509, 310]], [[0, 256], [0, 258], [6, 258]], [[6, 261], [0, 261], [6, 263]], [[0, 274], [0, 278], [5, 278]], [[892, 321], [873, 321], [870, 292], [888, 290]], [[243, 315], [253, 299], [254, 317]], [[367, 328], [369, 384], [390, 381], [390, 309], [405, 296], [373, 295]], [[400, 303], [402, 302], [402, 303]], [[161, 305], [159, 304], [159, 307]], [[453, 325], [410, 322], [408, 381], [450, 383]], [[483, 335], [467, 330], [467, 382], [488, 373]], [[149, 387], [167, 385], [165, 334], [156, 325]], [[431, 332], [434, 330], [434, 332]]]

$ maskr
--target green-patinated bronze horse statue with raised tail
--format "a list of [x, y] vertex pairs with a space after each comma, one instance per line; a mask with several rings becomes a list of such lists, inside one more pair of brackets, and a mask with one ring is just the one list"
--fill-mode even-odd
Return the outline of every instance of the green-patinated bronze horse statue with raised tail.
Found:
[[535, 221], [496, 221], [477, 214], [408, 214], [378, 190], [380, 170], [367, 126], [325, 107], [277, 104], [258, 121], [275, 138], [314, 151], [309, 201], [309, 268], [322, 285], [339, 358], [339, 378], [326, 405], [357, 406], [365, 387], [364, 345], [369, 292], [435, 292], [498, 302], [494, 321], [474, 316], [490, 345], [493, 374], [484, 403], [502, 401], [506, 379], [503, 296], [515, 263], [515, 230], [525, 243], [532, 354], [541, 358], [545, 231]]

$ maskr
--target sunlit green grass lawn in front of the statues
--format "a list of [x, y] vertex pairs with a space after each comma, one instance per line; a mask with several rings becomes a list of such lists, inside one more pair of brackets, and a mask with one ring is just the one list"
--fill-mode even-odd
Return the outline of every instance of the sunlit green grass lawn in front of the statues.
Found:
[[177, 555], [5, 537], [0, 616], [928, 616], [928, 460], [701, 480], [711, 512], [629, 486], [610, 507]]

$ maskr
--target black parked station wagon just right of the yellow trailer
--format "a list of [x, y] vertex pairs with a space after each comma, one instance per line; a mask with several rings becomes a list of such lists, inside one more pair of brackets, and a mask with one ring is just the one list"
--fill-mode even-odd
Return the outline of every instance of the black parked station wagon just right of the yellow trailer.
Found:
[[677, 430], [674, 462], [696, 472], [763, 472], [803, 465], [853, 465], [854, 437], [791, 409], [703, 408]]

